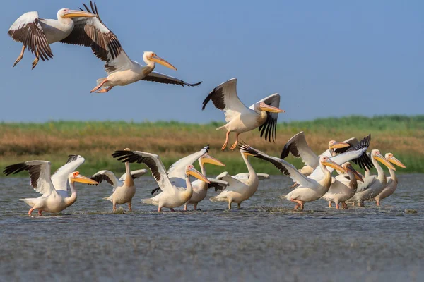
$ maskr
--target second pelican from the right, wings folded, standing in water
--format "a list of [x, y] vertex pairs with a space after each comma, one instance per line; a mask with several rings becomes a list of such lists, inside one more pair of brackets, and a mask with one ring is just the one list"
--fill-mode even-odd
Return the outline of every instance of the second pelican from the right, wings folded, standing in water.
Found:
[[394, 166], [382, 156], [378, 149], [373, 149], [371, 151], [371, 161], [375, 166], [375, 169], [377, 169], [378, 175], [370, 175], [364, 178], [364, 183], [358, 183], [355, 195], [353, 195], [351, 200], [349, 200], [349, 202], [353, 202], [353, 205], [355, 205], [355, 202], [358, 202], [358, 206], [363, 207], [365, 200], [371, 200], [373, 197], [379, 195], [384, 187], [386, 187], [387, 179], [384, 175], [383, 168], [378, 164], [378, 162], [381, 162], [394, 171], [396, 170], [396, 168], [394, 168]]

